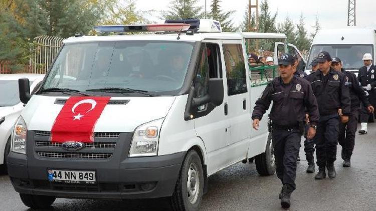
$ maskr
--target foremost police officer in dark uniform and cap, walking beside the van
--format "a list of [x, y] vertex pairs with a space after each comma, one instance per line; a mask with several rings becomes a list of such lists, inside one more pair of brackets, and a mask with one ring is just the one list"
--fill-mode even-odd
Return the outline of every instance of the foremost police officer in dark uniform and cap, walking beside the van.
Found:
[[[290, 207], [290, 195], [295, 189], [296, 159], [302, 136], [302, 122], [306, 110], [310, 116], [311, 127], [308, 136], [313, 137], [318, 121], [318, 106], [312, 87], [307, 80], [294, 77], [294, 58], [283, 54], [279, 60], [280, 76], [271, 81], [256, 101], [252, 113], [253, 128], [258, 129], [259, 122], [269, 109], [272, 121], [272, 141], [278, 178], [283, 187], [280, 193], [282, 207]], [[293, 113], [293, 115], [292, 115]]]

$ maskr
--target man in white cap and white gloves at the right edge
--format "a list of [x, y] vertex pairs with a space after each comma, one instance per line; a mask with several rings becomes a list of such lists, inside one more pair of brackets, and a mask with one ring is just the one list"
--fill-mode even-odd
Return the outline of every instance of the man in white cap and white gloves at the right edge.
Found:
[[[360, 85], [368, 92], [369, 102], [373, 107], [376, 106], [376, 66], [372, 64], [372, 55], [365, 53], [363, 56], [364, 66], [360, 67], [358, 73], [358, 80]], [[373, 114], [374, 117], [374, 114]], [[369, 113], [366, 107], [362, 107], [360, 113], [360, 125], [359, 134], [367, 133], [367, 122]]]

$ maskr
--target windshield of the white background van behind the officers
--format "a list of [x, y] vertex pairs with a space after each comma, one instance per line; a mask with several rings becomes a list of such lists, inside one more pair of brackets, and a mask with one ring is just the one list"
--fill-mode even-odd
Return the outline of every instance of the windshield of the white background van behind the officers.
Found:
[[312, 66], [309, 64], [313, 57], [316, 57], [323, 50], [329, 52], [333, 57], [339, 57], [345, 69], [359, 69], [364, 66], [362, 60], [364, 53], [371, 53], [373, 55], [373, 45], [371, 44], [316, 44], [312, 45], [311, 52], [309, 53], [307, 69], [311, 69]]

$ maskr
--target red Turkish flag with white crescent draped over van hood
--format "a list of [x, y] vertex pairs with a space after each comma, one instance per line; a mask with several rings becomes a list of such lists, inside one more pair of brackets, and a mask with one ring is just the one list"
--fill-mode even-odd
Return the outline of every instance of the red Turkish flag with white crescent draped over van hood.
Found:
[[52, 142], [93, 142], [94, 126], [110, 98], [69, 97], [52, 126]]

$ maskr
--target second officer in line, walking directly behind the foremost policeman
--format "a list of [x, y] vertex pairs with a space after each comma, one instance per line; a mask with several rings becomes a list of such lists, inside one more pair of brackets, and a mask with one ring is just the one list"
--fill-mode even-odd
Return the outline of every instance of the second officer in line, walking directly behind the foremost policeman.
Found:
[[329, 178], [336, 176], [334, 161], [337, 153], [339, 130], [339, 108], [342, 109], [342, 122], [348, 121], [350, 114], [350, 96], [345, 75], [330, 67], [331, 56], [322, 51], [317, 56], [320, 71], [316, 71], [306, 78], [311, 82], [317, 98], [320, 113], [317, 134], [314, 137], [316, 157], [319, 171], [315, 179], [326, 177], [325, 167]]

